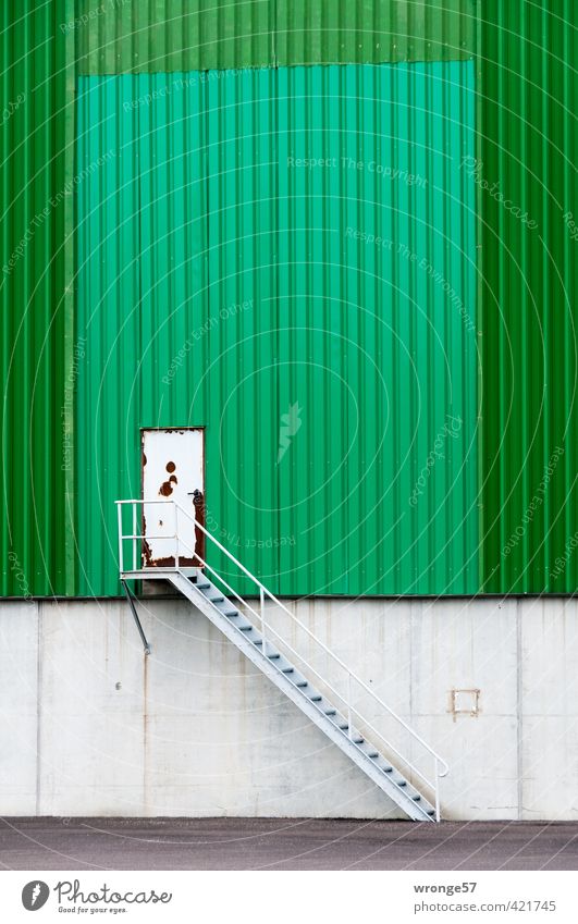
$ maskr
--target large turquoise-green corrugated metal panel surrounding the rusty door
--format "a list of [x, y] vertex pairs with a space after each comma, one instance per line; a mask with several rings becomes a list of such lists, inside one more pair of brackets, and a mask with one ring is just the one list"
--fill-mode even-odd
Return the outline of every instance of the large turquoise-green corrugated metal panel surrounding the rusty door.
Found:
[[174, 426], [278, 592], [475, 592], [474, 64], [199, 76], [79, 82], [81, 592], [118, 591], [113, 502]]

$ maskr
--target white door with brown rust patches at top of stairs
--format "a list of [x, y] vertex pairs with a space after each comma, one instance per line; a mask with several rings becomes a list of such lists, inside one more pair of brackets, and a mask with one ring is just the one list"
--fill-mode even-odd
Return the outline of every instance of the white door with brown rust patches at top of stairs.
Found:
[[[205, 431], [201, 428], [143, 430], [143, 500], [175, 501], [205, 525]], [[172, 506], [143, 505], [143, 557], [147, 567], [190, 567], [205, 558], [205, 537]], [[196, 554], [195, 554], [196, 553]]]

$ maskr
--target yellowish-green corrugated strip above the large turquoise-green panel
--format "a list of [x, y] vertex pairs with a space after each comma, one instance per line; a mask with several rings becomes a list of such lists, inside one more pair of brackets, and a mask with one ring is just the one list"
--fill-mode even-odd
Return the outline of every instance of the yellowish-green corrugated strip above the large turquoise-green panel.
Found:
[[475, 52], [475, 0], [79, 0], [82, 74], [451, 61]]

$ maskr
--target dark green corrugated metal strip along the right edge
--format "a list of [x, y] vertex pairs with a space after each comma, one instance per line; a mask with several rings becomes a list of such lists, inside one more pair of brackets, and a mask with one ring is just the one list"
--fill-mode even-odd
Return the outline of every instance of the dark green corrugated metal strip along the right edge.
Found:
[[578, 9], [483, 16], [484, 590], [574, 593]]

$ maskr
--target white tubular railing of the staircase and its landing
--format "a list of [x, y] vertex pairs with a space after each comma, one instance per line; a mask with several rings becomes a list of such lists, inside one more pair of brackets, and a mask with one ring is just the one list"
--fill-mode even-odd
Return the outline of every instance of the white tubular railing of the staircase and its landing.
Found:
[[[174, 540], [174, 542], [175, 542], [175, 550], [174, 550], [175, 551], [175, 567], [174, 567], [174, 570], [175, 571], [181, 570], [180, 559], [181, 559], [181, 557], [184, 557], [184, 556], [182, 556], [181, 553], [184, 551], [187, 554], [187, 557], [194, 558], [196, 562], [198, 562], [197, 567], [201, 567], [201, 568], [210, 571], [211, 575], [213, 575], [213, 577], [226, 589], [227, 593], [230, 593], [232, 596], [234, 596], [235, 600], [247, 612], [251, 613], [251, 615], [256, 619], [256, 624], [258, 626], [260, 625], [262, 640], [263, 640], [263, 645], [262, 645], [263, 654], [267, 655], [267, 641], [269, 640], [269, 641], [272, 642], [273, 640], [276, 640], [276, 641], [280, 642], [282, 648], [290, 651], [292, 655], [294, 655], [299, 662], [302, 662], [302, 664], [304, 665], [304, 672], [309, 674], [309, 675], [312, 674], [315, 677], [317, 677], [317, 679], [320, 680], [321, 683], [324, 687], [328, 688], [328, 690], [333, 694], [333, 697], [335, 697], [342, 703], [342, 706], [344, 707], [343, 711], [346, 712], [346, 714], [347, 714], [349, 737], [353, 737], [353, 726], [354, 726], [353, 718], [354, 718], [354, 716], [356, 716], [359, 719], [360, 724], [366, 729], [369, 729], [373, 735], [376, 735], [376, 737], [381, 739], [381, 741], [388, 747], [389, 752], [392, 752], [397, 757], [399, 757], [399, 760], [404, 764], [406, 764], [407, 767], [409, 767], [411, 773], [415, 774], [416, 776], [418, 776], [426, 784], [426, 786], [428, 786], [434, 792], [435, 817], [436, 817], [436, 821], [440, 821], [440, 778], [447, 775], [450, 767], [448, 767], [447, 763], [444, 761], [444, 759], [430, 744], [428, 744], [428, 742], [425, 741], [425, 739], [421, 738], [421, 736], [418, 735], [417, 731], [414, 728], [411, 728], [411, 726], [408, 725], [407, 722], [405, 722], [405, 719], [402, 718], [401, 715], [398, 715], [393, 709], [391, 709], [391, 706], [389, 706], [388, 703], [385, 703], [376, 693], [376, 691], [372, 690], [371, 687], [369, 687], [365, 682], [365, 680], [362, 680], [360, 677], [358, 677], [345, 664], [345, 662], [343, 662], [334, 652], [332, 652], [331, 649], [328, 648], [328, 645], [325, 645], [324, 642], [322, 642], [321, 639], [318, 638], [318, 636], [316, 636], [315, 632], [312, 632], [309, 629], [309, 627], [305, 625], [305, 623], [302, 623], [302, 620], [298, 619], [297, 616], [294, 613], [292, 613], [291, 609], [288, 609], [284, 605], [284, 603], [282, 603], [263, 583], [261, 583], [261, 581], [255, 575], [253, 575], [249, 571], [249, 569], [246, 568], [245, 565], [242, 562], [238, 560], [238, 558], [236, 558], [227, 549], [225, 549], [225, 546], [221, 542], [219, 542], [219, 540], [216, 539], [196, 519], [196, 517], [194, 515], [189, 514], [188, 510], [186, 510], [184, 507], [182, 507], [180, 504], [177, 504], [176, 501], [172, 501], [171, 498], [162, 498], [162, 500], [155, 498], [155, 500], [150, 500], [150, 501], [148, 501], [148, 500], [128, 500], [128, 501], [116, 501], [115, 504], [116, 504], [116, 508], [118, 508], [118, 519], [119, 519], [119, 564], [120, 564], [121, 577], [123, 576], [123, 574], [125, 574], [125, 568], [124, 568], [124, 542], [125, 541], [131, 541], [131, 543], [132, 543], [132, 556], [131, 557], [132, 557], [132, 566], [133, 567], [128, 568], [127, 570], [133, 571], [133, 572], [136, 572], [136, 571], [144, 572], [144, 571], [155, 571], [155, 570], [157, 570], [157, 567], [156, 566], [146, 566], [146, 567], [140, 567], [140, 568], [137, 567], [137, 563], [139, 560], [139, 557], [142, 558], [140, 551], [138, 549], [138, 543], [142, 542], [143, 540], [150, 540], [150, 539]], [[138, 509], [138, 506], [144, 507], [144, 506], [148, 506], [149, 504], [160, 504], [160, 505], [163, 505], [163, 506], [168, 506], [168, 505], [172, 506], [172, 508], [174, 509], [174, 534], [164, 533], [162, 535], [153, 535], [149, 532], [144, 534], [144, 533], [139, 533], [137, 531], [137, 520], [138, 520], [137, 509]], [[123, 521], [122, 521], [122, 508], [123, 508], [123, 506], [128, 506], [128, 505], [132, 505], [132, 507], [133, 507], [132, 532], [124, 533], [123, 532]], [[205, 562], [195, 549], [192, 549], [190, 545], [188, 545], [188, 543], [186, 543], [183, 540], [183, 538], [180, 535], [180, 531], [179, 531], [179, 518], [180, 517], [184, 517], [187, 520], [189, 520], [189, 522], [194, 526], [195, 530], [199, 529], [204, 533], [204, 535], [208, 539], [208, 541], [210, 543], [212, 543], [212, 545], [214, 545], [217, 549], [219, 549], [219, 551], [223, 555], [225, 555], [231, 562], [233, 562], [233, 564], [241, 571], [243, 571], [243, 574], [255, 584], [255, 587], [259, 591], [259, 594], [258, 594], [259, 595], [259, 611], [258, 612], [250, 605], [250, 603], [247, 600], [242, 597], [237, 593], [237, 591], [235, 591], [235, 589], [229, 584], [227, 581], [225, 581], [225, 579], [222, 577], [222, 575], [220, 575], [218, 571], [216, 571], [216, 569], [211, 565], [209, 565], [207, 562]], [[140, 560], [140, 565], [143, 565], [142, 560]], [[324, 652], [324, 654], [329, 655], [329, 657], [333, 661], [333, 663], [335, 665], [337, 665], [344, 672], [345, 678], [346, 678], [347, 695], [344, 695], [339, 690], [336, 690], [333, 687], [333, 685], [330, 683], [327, 680], [325, 677], [323, 677], [321, 674], [319, 674], [319, 672], [310, 663], [308, 663], [305, 660], [304, 655], [300, 652], [295, 651], [295, 649], [292, 648], [292, 645], [286, 641], [286, 639], [283, 636], [281, 636], [278, 632], [278, 630], [270, 623], [267, 621], [267, 619], [266, 619], [266, 599], [270, 600], [273, 604], [275, 604], [275, 606], [280, 607], [280, 609], [282, 609], [290, 617], [293, 625], [298, 626], [299, 629], [303, 630], [310, 639], [312, 639], [316, 642], [316, 644], [318, 644], [321, 648], [321, 650]], [[214, 608], [217, 609], [218, 607], [214, 607]], [[416, 744], [422, 747], [425, 749], [425, 751], [430, 755], [430, 757], [433, 761], [433, 780], [429, 779], [419, 769], [419, 767], [417, 767], [415, 764], [413, 764], [411, 761], [409, 761], [409, 759], [406, 757], [395, 747], [395, 744], [392, 741], [390, 741], [388, 738], [384, 737], [382, 731], [377, 729], [372, 725], [372, 723], [370, 723], [355, 707], [353, 692], [352, 692], [352, 685], [353, 683], [357, 685], [360, 689], [362, 689], [366, 694], [369, 694], [369, 697], [373, 700], [373, 702], [377, 705], [379, 705], [381, 709], [383, 709], [391, 718], [393, 718], [405, 731], [408, 732], [408, 735], [410, 736], [413, 741]]]

